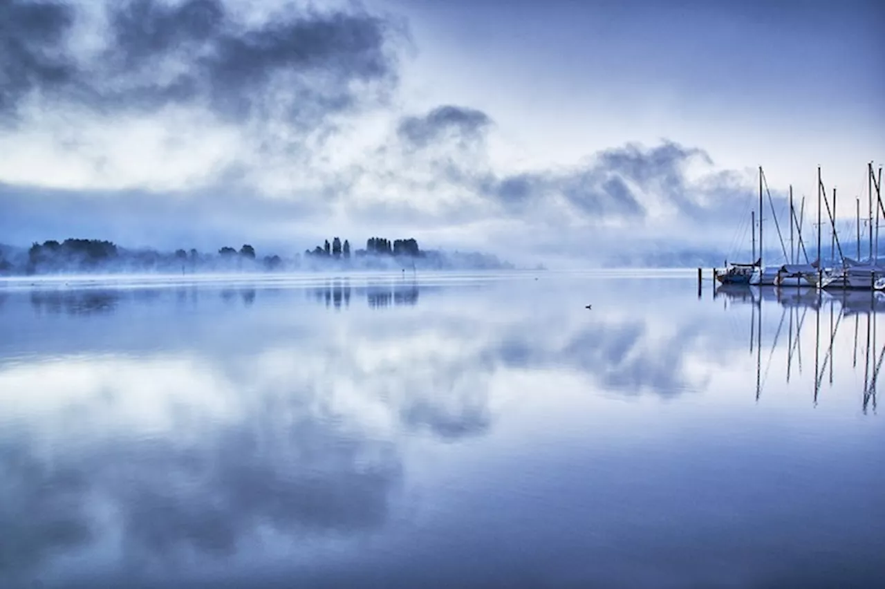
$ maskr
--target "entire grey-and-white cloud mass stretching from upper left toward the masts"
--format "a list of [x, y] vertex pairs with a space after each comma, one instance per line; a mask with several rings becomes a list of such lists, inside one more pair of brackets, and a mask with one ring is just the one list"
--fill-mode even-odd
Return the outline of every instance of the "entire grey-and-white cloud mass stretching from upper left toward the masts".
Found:
[[518, 263], [600, 263], [625, 248], [720, 248], [750, 208], [751, 173], [698, 147], [502, 164], [492, 113], [401, 111], [389, 98], [409, 33], [388, 14], [96, 6], [0, 7], [0, 117], [16, 127], [0, 137], [0, 229], [19, 245], [78, 233], [286, 253], [327, 233], [402, 233]]

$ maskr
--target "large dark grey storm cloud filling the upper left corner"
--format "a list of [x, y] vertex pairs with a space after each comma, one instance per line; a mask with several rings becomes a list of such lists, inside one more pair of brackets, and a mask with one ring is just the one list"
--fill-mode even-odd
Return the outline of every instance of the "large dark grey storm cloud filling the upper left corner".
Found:
[[81, 61], [67, 43], [78, 16], [65, 4], [0, 4], [0, 115], [39, 94], [104, 112], [187, 104], [312, 124], [361, 99], [353, 82], [396, 80], [395, 27], [365, 11], [290, 7], [250, 26], [221, 0], [110, 3], [106, 46]]

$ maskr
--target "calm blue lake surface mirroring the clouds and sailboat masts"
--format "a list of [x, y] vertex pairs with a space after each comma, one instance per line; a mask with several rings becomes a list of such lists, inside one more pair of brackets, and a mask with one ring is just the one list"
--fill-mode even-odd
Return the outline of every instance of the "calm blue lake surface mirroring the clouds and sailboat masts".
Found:
[[885, 586], [885, 300], [711, 287], [0, 283], [0, 586]]

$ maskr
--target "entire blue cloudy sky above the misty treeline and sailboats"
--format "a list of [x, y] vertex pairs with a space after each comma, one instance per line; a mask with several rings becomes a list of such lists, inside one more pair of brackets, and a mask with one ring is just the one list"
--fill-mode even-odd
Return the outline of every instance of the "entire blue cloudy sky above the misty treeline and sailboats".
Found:
[[874, 0], [0, 0], [0, 243], [728, 254], [760, 165], [784, 233], [819, 165], [853, 226], [883, 31]]

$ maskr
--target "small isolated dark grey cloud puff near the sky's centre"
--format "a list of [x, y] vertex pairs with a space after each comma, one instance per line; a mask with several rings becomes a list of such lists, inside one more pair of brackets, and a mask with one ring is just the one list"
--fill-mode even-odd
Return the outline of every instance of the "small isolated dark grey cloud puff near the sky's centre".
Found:
[[491, 125], [485, 112], [444, 104], [422, 116], [404, 117], [396, 134], [406, 147], [420, 149], [451, 138], [458, 142], [479, 139]]

